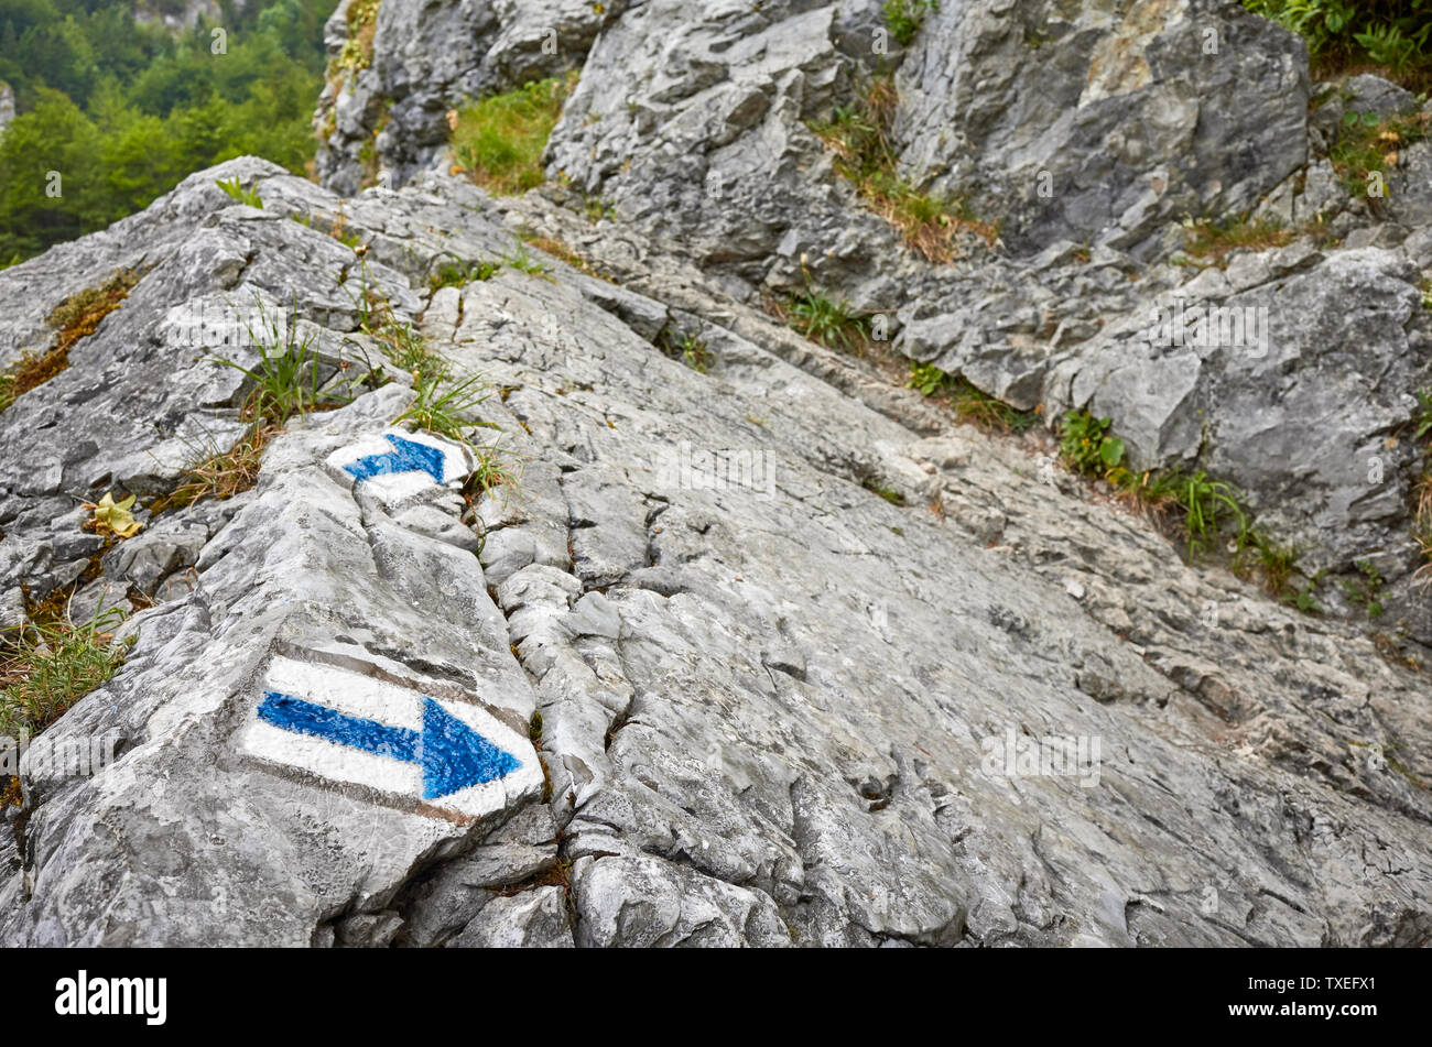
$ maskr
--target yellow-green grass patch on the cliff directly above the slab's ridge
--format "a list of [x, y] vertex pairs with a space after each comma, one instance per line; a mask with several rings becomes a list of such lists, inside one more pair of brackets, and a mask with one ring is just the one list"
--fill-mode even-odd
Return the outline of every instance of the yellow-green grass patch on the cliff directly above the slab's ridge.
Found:
[[477, 185], [498, 196], [540, 186], [541, 154], [573, 86], [576, 73], [531, 82], [458, 109], [453, 119], [453, 159]]

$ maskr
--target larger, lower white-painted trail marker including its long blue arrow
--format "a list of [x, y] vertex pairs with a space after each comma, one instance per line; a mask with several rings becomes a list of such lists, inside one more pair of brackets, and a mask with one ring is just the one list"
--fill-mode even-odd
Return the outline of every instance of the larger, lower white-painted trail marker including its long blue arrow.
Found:
[[239, 748], [455, 820], [491, 814], [543, 784], [531, 742], [480, 705], [282, 655], [269, 664]]

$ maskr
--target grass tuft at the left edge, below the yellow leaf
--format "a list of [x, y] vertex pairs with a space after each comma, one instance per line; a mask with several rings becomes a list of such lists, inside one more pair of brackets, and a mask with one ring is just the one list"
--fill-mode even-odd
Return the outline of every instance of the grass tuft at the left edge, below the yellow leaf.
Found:
[[0, 655], [0, 735], [39, 734], [115, 675], [127, 645], [113, 632], [125, 616], [115, 606], [82, 625], [32, 622], [33, 634]]

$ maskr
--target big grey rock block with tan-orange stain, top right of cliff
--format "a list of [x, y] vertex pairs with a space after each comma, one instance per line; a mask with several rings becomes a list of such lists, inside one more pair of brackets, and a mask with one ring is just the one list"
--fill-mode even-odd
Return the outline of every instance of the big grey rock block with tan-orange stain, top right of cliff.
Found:
[[1246, 210], [1306, 162], [1306, 50], [1236, 0], [942, 4], [896, 84], [902, 164], [1017, 250], [1157, 256], [1170, 220]]

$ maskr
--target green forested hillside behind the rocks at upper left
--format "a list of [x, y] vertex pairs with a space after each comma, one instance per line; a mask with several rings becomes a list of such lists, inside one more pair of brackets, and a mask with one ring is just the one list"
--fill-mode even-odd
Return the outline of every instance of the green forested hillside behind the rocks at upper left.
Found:
[[[137, 21], [132, 0], [0, 0], [0, 80], [19, 112], [0, 132], [0, 267], [103, 229], [235, 156], [302, 174], [316, 149], [311, 120], [335, 6], [219, 0], [212, 23], [170, 30]], [[50, 172], [59, 196], [46, 192]]]

